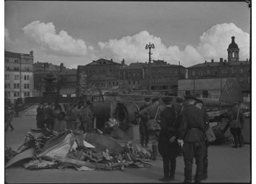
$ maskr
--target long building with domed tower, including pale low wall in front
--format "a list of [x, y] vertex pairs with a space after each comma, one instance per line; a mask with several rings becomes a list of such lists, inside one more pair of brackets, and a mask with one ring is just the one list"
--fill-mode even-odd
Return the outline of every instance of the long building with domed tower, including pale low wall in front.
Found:
[[239, 60], [239, 47], [231, 37], [232, 42], [227, 49], [227, 60], [205, 61], [193, 65], [187, 70], [187, 78], [178, 81], [178, 94], [193, 94], [197, 97], [219, 100], [221, 89], [227, 78], [236, 78], [239, 82], [244, 101], [250, 101], [251, 61]]

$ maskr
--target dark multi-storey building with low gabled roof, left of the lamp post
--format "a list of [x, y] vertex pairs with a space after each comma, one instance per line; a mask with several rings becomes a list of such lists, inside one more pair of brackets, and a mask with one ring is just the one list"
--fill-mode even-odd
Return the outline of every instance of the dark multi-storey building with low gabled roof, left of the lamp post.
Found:
[[88, 65], [78, 65], [77, 70], [77, 94], [83, 90], [92, 87], [118, 88], [119, 86], [119, 68], [124, 66], [124, 60], [121, 63], [115, 63], [112, 59], [93, 60]]

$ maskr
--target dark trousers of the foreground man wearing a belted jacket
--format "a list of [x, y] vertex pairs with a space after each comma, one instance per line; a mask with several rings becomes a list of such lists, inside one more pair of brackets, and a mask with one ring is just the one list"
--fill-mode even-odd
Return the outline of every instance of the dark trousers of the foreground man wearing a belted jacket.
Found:
[[183, 144], [183, 159], [185, 162], [184, 175], [185, 181], [192, 181], [192, 165], [193, 158], [196, 159], [196, 175], [195, 180], [201, 181], [204, 170], [204, 156], [206, 146], [204, 141], [200, 142], [184, 142]]

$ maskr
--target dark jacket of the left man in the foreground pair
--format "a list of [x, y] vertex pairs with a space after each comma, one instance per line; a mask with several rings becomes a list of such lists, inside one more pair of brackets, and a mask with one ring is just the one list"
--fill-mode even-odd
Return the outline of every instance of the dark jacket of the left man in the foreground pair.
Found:
[[160, 138], [159, 142], [170, 142], [170, 138], [178, 137], [177, 112], [173, 107], [167, 106], [160, 114]]

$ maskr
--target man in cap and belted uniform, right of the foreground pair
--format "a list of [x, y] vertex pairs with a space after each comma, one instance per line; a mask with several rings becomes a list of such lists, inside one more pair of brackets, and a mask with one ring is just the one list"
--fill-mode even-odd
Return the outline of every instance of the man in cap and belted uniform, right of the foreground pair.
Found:
[[191, 183], [192, 181], [192, 165], [193, 158], [196, 159], [196, 175], [195, 182], [201, 183], [202, 173], [204, 170], [204, 156], [206, 152], [206, 139], [204, 111], [194, 106], [197, 98], [193, 96], [186, 96], [187, 106], [182, 113], [180, 121], [178, 143], [183, 144], [183, 160], [185, 162], [184, 183]]

